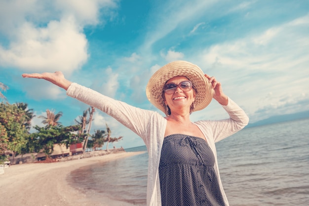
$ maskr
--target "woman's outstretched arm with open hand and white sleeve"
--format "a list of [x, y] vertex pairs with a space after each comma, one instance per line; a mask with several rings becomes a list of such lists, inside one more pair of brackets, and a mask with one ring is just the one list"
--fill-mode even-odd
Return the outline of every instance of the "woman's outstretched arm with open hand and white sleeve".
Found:
[[[43, 79], [67, 90], [67, 95], [77, 100], [98, 108], [104, 113], [115, 118], [118, 122], [131, 129], [137, 135], [149, 142], [150, 123], [154, 117], [165, 120], [161, 115], [149, 110], [143, 110], [130, 106], [122, 101], [117, 101], [85, 86], [73, 83], [65, 79], [62, 72], [23, 74], [24, 78]], [[152, 124], [153, 125], [153, 124]]]

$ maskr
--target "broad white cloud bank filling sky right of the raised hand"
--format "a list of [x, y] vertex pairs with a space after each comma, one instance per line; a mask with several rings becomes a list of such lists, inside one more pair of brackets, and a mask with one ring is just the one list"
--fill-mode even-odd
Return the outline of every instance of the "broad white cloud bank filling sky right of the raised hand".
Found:
[[253, 37], [213, 45], [201, 57], [223, 83], [225, 92], [245, 105], [251, 120], [296, 112], [295, 105], [308, 99], [308, 18], [306, 15]]

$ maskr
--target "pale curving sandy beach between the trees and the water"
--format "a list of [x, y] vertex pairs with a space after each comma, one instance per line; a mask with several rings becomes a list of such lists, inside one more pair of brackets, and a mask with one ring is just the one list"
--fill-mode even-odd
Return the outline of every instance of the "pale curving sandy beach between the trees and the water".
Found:
[[122, 152], [56, 163], [11, 165], [0, 175], [0, 206], [127, 206], [102, 198], [91, 199], [66, 180], [81, 166], [113, 161], [143, 152]]

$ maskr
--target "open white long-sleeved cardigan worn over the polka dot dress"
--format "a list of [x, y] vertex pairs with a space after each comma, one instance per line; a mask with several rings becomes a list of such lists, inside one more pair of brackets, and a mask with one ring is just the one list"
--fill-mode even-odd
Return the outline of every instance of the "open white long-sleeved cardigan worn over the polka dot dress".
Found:
[[[72, 83], [70, 85], [67, 90], [67, 95], [98, 108], [112, 116], [144, 140], [149, 154], [147, 206], [161, 206], [158, 169], [167, 123], [166, 119], [157, 112], [130, 106], [77, 83]], [[214, 153], [216, 161], [214, 168], [218, 176], [223, 199], [226, 206], [229, 206], [220, 179], [215, 142], [218, 142], [242, 129], [248, 124], [249, 119], [245, 112], [231, 99], [229, 99], [228, 105], [223, 106], [223, 108], [228, 112], [230, 119], [220, 121], [198, 121], [194, 124], [196, 124], [203, 132], [208, 145]]]

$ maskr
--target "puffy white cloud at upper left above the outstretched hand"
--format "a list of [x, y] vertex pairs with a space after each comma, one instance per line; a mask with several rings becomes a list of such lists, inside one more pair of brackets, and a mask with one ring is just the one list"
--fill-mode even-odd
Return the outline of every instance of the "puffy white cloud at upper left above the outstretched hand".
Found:
[[26, 72], [61, 70], [71, 74], [87, 60], [87, 40], [73, 19], [51, 21], [45, 28], [25, 23], [19, 39], [0, 47], [0, 64]]

